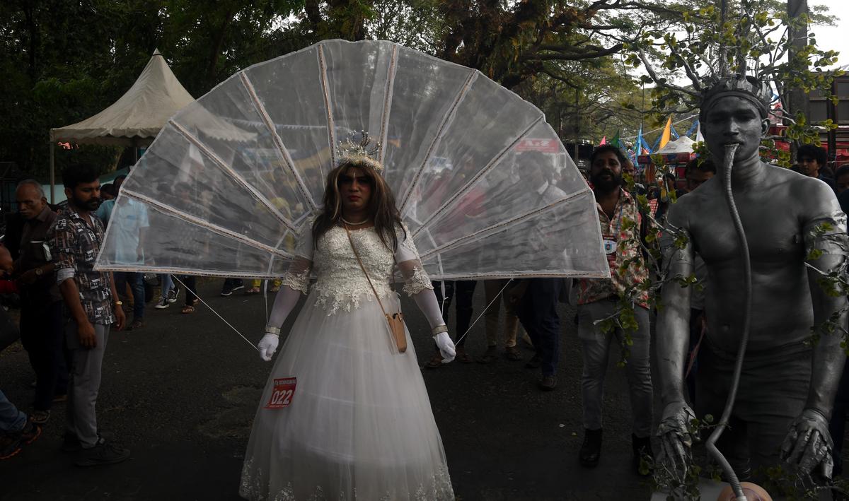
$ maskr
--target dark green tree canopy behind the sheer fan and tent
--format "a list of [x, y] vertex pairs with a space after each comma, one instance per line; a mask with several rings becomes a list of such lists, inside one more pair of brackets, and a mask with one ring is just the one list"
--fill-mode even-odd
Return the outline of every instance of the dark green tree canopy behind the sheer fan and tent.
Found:
[[[714, 3], [12, 0], [0, 4], [0, 68], [7, 82], [0, 160], [45, 175], [48, 130], [113, 103], [155, 48], [188, 92], [200, 97], [239, 69], [326, 38], [390, 40], [481, 70], [540, 106], [564, 140], [618, 129], [633, 135], [647, 109], [661, 115], [692, 108], [698, 84], [678, 82], [716, 70], [711, 61], [719, 47], [728, 48], [733, 62], [760, 60], [784, 47], [782, 39], [767, 42], [788, 22], [777, 0], [729, 0], [725, 24]], [[801, 22], [816, 20], [827, 19]], [[818, 70], [835, 54], [815, 46], [799, 54], [765, 74], [784, 86], [822, 84], [826, 77]], [[648, 69], [645, 106], [635, 64]], [[61, 168], [73, 156], [109, 169], [119, 153], [102, 147], [59, 151], [57, 163]]]

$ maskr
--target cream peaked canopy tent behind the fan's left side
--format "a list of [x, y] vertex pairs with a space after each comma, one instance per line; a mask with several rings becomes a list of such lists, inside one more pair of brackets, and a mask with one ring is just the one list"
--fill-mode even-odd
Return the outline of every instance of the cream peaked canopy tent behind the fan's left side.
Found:
[[53, 148], [57, 142], [140, 147], [149, 145], [179, 109], [194, 101], [171, 68], [155, 50], [141, 75], [120, 99], [92, 117], [50, 130], [50, 201], [55, 172]]

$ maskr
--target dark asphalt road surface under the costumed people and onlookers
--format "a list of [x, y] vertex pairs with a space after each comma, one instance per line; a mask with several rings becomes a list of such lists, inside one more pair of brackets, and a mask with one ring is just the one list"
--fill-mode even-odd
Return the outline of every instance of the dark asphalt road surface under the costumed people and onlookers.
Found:
[[[200, 297], [256, 343], [266, 319], [263, 298], [242, 291], [219, 297], [221, 282], [201, 281]], [[110, 334], [98, 425], [132, 449], [131, 459], [74, 466], [59, 450], [65, 404], [55, 404], [42, 437], [0, 461], [0, 501], [239, 499], [250, 423], [271, 364], [210, 308], [181, 315], [182, 294], [180, 299], [164, 310], [150, 303], [146, 326]], [[424, 365], [433, 350], [430, 329], [413, 303], [403, 306]], [[475, 317], [483, 307], [478, 287]], [[559, 385], [553, 392], [537, 388], [538, 370], [507, 359], [422, 369], [459, 500], [649, 498], [646, 480], [631, 470], [630, 405], [616, 346], [606, 382], [601, 462], [594, 470], [578, 465], [582, 362], [574, 312], [562, 305], [560, 318]], [[472, 355], [486, 347], [483, 324], [481, 318], [469, 333]], [[530, 359], [532, 352], [523, 348], [522, 354]], [[33, 379], [20, 343], [0, 353], [0, 388], [21, 409], [30, 409]]]

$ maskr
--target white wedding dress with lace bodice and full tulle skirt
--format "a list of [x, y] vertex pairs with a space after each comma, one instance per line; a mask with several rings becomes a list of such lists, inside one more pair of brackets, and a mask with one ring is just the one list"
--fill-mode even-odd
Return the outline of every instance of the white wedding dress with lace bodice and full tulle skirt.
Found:
[[[430, 292], [409, 233], [396, 234], [403, 292]], [[352, 230], [351, 237], [384, 308], [398, 311], [391, 251], [373, 228]], [[333, 227], [314, 252], [312, 232], [305, 231], [296, 255], [284, 285], [308, 297], [262, 392], [239, 494], [274, 501], [453, 499], [413, 342], [407, 332], [407, 352], [398, 353], [345, 229]], [[311, 274], [318, 281], [309, 287]], [[286, 377], [297, 378], [291, 404], [266, 409], [273, 380]]]

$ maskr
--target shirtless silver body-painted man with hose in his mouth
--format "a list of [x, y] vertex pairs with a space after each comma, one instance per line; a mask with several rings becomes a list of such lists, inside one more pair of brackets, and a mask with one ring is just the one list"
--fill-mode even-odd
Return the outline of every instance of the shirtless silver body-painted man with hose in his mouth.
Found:
[[[839, 313], [846, 297], [824, 292], [820, 274], [811, 267], [841, 268], [846, 216], [823, 181], [762, 162], [758, 149], [768, 127], [764, 90], [751, 77], [735, 75], [706, 92], [700, 119], [719, 175], [669, 211], [668, 223], [685, 231], [689, 242], [683, 249], [667, 245], [665, 259], [671, 276], [690, 276], [694, 253], [705, 260], [708, 329], [694, 413], [683, 390], [691, 287], [667, 283], [655, 343], [664, 404], [658, 431], [661, 461], [686, 468], [692, 437], [684, 423], [706, 414], [718, 420], [732, 385], [745, 321], [745, 261], [723, 199], [729, 166], [722, 159], [726, 145], [735, 143], [731, 186], [749, 246], [751, 328], [734, 412], [717, 446], [741, 480], [751, 468], [779, 460], [801, 473], [816, 469], [829, 477], [828, 420], [846, 357], [840, 334], [806, 342], [812, 326], [832, 315], [840, 315], [839, 325], [846, 325], [846, 314]], [[816, 231], [824, 228], [822, 223], [829, 223], [829, 230]], [[812, 248], [821, 249], [822, 256], [809, 259]]]

